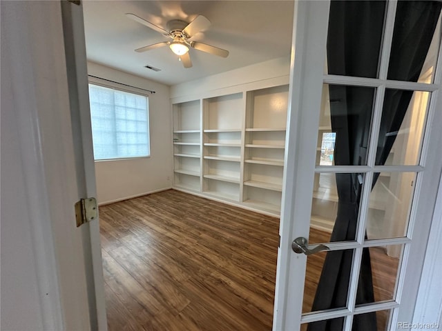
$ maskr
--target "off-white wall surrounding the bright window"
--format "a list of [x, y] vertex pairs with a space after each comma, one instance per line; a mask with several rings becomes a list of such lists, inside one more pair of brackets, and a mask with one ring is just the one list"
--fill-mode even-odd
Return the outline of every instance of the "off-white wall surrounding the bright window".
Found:
[[88, 74], [155, 91], [155, 94], [148, 94], [151, 157], [95, 162], [98, 202], [110, 203], [171, 188], [173, 150], [169, 86], [93, 62], [88, 62]]

